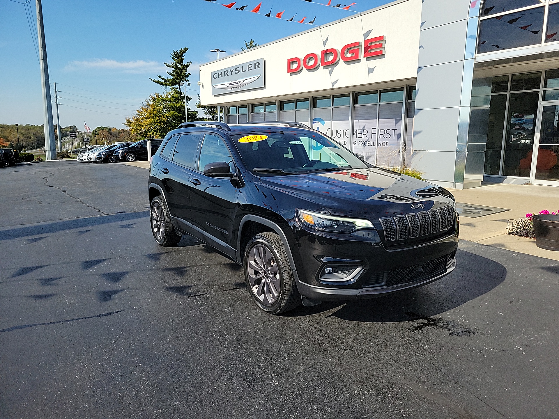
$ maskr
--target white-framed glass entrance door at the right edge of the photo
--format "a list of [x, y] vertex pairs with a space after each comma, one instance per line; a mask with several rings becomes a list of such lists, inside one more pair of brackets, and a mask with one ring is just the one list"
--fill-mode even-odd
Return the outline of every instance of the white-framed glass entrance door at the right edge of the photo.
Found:
[[530, 182], [559, 186], [559, 101], [542, 103], [538, 113]]

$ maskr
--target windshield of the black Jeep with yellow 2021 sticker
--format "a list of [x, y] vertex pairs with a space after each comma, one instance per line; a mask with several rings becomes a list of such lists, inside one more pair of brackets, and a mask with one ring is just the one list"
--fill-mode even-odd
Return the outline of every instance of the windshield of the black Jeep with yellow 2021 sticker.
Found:
[[349, 150], [316, 131], [262, 131], [233, 134], [231, 138], [244, 164], [258, 175], [368, 167]]

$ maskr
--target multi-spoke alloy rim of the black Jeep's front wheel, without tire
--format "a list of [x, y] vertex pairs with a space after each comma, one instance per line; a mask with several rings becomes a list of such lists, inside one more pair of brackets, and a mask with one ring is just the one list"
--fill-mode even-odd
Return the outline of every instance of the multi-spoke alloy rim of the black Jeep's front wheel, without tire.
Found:
[[266, 246], [255, 245], [248, 255], [250, 287], [260, 302], [272, 305], [280, 296], [280, 271], [276, 258]]

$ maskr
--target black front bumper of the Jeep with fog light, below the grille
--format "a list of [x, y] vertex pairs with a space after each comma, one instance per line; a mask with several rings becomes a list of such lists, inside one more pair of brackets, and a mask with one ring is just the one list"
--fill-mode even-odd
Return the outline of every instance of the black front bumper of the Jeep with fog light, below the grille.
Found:
[[444, 237], [394, 249], [380, 240], [340, 240], [304, 228], [295, 233], [300, 258], [297, 289], [307, 299], [305, 305], [382, 297], [428, 284], [456, 268], [456, 228]]

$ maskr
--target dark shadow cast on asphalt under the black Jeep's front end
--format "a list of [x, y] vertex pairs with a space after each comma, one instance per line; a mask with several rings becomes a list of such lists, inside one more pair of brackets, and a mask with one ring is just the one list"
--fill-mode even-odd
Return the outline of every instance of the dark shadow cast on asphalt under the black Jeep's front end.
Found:
[[490, 292], [506, 278], [506, 268], [493, 260], [464, 250], [458, 250], [456, 259], [457, 268], [451, 274], [425, 287], [374, 299], [301, 305], [285, 315], [315, 315], [340, 307], [329, 316], [359, 322], [415, 321], [459, 307]]

